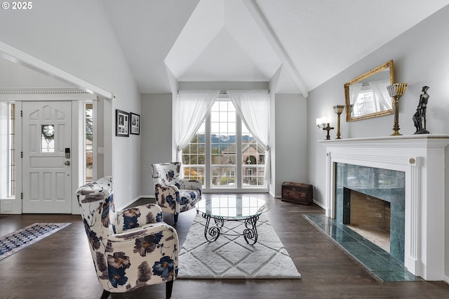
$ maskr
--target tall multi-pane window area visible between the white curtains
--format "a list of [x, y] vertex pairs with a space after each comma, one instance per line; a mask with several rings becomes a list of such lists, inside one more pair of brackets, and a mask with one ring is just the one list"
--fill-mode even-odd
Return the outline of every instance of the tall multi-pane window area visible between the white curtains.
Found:
[[196, 135], [182, 150], [184, 177], [206, 188], [265, 188], [264, 150], [229, 99], [217, 99]]

